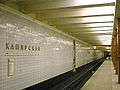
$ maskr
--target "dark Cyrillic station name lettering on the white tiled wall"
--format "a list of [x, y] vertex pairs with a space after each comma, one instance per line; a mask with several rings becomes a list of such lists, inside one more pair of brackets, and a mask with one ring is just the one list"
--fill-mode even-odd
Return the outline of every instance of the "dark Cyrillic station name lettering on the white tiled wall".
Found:
[[40, 51], [40, 46], [6, 43], [6, 50]]

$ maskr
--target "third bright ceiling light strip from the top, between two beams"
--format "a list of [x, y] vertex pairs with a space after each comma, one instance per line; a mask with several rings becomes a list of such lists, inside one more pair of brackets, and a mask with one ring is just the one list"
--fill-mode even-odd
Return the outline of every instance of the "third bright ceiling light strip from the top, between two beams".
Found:
[[94, 16], [94, 17], [83, 17], [83, 18], [65, 18], [65, 19], [56, 19], [53, 20], [54, 24], [71, 24], [71, 23], [104, 23], [104, 22], [113, 22], [114, 16]]

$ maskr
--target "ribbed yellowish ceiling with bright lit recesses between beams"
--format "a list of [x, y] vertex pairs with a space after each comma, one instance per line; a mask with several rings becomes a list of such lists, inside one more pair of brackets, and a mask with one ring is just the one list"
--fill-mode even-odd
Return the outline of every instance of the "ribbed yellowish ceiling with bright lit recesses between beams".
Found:
[[94, 46], [111, 45], [115, 1], [0, 0], [7, 6]]

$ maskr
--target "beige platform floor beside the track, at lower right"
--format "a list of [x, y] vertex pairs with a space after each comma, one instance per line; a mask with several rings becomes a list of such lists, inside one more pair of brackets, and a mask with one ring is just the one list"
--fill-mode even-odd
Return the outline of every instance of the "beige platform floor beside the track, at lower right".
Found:
[[105, 60], [80, 90], [120, 90], [111, 60]]

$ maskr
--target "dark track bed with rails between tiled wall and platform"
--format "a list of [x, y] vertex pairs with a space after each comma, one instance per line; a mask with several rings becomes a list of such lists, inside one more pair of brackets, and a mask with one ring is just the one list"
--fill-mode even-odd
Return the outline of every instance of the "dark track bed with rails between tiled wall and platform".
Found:
[[104, 62], [106, 56], [94, 60], [76, 69], [76, 72], [69, 71], [42, 83], [38, 83], [23, 90], [80, 90], [87, 80]]

